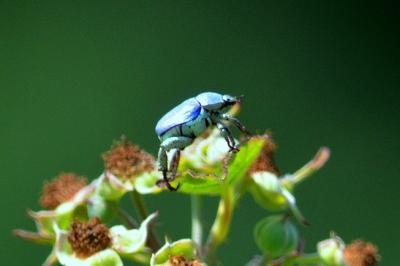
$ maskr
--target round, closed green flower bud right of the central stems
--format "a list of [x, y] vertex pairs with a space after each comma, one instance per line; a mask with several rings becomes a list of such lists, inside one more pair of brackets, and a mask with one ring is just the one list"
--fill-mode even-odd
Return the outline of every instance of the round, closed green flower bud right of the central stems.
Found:
[[273, 259], [293, 252], [298, 245], [299, 235], [287, 217], [274, 215], [256, 224], [254, 238], [259, 249]]

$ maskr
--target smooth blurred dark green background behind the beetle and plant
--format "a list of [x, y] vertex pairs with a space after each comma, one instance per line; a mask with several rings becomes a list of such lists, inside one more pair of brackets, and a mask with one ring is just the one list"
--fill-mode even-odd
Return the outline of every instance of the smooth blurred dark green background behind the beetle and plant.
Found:
[[[296, 190], [312, 224], [302, 228], [308, 251], [335, 230], [397, 265], [399, 6], [300, 2], [1, 0], [2, 265], [40, 265], [50, 251], [11, 234], [34, 228], [25, 209], [39, 208], [44, 180], [97, 177], [122, 134], [156, 154], [157, 120], [205, 90], [245, 95], [239, 118], [273, 132], [283, 172], [331, 148]], [[146, 200], [160, 210], [160, 234], [189, 236], [188, 197]], [[216, 199], [207, 204], [209, 226]], [[257, 253], [252, 228], [266, 215], [251, 197], [241, 202], [224, 265]]]

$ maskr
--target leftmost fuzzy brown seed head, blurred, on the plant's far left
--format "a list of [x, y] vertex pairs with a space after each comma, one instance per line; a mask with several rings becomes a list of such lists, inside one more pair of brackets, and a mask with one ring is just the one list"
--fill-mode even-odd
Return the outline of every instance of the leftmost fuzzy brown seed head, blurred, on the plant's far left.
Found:
[[62, 173], [51, 182], [43, 185], [39, 203], [46, 209], [55, 209], [61, 203], [70, 200], [79, 190], [86, 186], [87, 179], [73, 173]]

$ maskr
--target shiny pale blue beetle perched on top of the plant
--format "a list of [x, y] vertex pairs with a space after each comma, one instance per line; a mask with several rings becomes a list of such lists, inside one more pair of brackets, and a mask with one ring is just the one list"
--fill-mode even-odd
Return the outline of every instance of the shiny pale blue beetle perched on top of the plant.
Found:
[[[183, 101], [158, 121], [155, 131], [161, 144], [157, 161], [159, 171], [163, 174], [163, 179], [159, 182], [165, 183], [171, 191], [179, 188], [180, 184], [173, 187], [169, 182], [175, 178], [180, 151], [192, 144], [193, 140], [210, 126], [217, 126], [225, 138], [230, 152], [239, 151], [239, 144], [235, 143], [235, 139], [224, 121], [234, 124], [246, 135], [251, 135], [237, 118], [226, 113], [231, 106], [240, 103], [241, 98], [216, 92], [203, 92]], [[168, 168], [167, 153], [169, 151], [171, 151], [172, 157]], [[171, 177], [168, 178], [167, 172], [171, 170]]]

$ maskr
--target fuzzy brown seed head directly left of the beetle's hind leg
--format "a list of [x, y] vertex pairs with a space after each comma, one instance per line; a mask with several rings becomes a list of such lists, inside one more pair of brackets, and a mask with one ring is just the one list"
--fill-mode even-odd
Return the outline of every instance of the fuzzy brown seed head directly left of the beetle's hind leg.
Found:
[[111, 150], [102, 157], [105, 169], [124, 179], [154, 170], [154, 157], [131, 144], [124, 136], [115, 141]]

